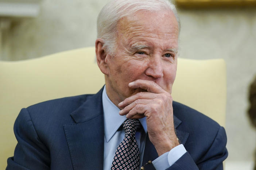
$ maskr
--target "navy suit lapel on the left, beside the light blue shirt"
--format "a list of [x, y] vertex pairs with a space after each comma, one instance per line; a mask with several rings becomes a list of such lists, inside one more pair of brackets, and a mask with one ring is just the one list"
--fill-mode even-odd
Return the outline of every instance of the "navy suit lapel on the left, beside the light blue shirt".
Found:
[[104, 120], [102, 89], [88, 96], [83, 105], [71, 113], [75, 124], [64, 125], [74, 170], [103, 169]]

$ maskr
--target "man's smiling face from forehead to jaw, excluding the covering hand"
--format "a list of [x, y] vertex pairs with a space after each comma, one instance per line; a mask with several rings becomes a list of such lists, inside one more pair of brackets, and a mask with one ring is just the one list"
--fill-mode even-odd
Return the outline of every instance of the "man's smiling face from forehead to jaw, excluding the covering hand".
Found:
[[129, 82], [156, 82], [171, 93], [177, 70], [178, 23], [171, 11], [140, 11], [117, 23], [116, 55], [107, 56], [106, 92], [114, 104], [143, 89]]

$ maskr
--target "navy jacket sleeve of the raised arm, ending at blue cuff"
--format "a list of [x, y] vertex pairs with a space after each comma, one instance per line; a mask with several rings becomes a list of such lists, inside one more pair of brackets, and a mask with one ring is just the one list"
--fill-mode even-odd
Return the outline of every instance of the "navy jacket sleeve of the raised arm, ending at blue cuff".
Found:
[[195, 162], [189, 152], [186, 152], [167, 170], [223, 170], [222, 162], [228, 157], [226, 142], [225, 129], [220, 127], [214, 141], [201, 158]]

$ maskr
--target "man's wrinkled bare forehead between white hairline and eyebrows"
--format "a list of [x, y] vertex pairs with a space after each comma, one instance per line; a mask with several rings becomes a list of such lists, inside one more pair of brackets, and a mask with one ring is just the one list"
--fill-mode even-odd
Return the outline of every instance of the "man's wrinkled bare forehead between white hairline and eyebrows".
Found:
[[118, 21], [117, 38], [130, 45], [134, 41], [178, 44], [178, 22], [170, 10], [139, 11]]

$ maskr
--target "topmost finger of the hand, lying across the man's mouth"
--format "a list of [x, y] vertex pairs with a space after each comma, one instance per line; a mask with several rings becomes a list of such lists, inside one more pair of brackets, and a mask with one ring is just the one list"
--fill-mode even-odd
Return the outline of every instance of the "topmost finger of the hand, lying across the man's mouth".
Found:
[[147, 90], [150, 93], [164, 93], [164, 91], [158, 84], [156, 84], [154, 81], [150, 80], [135, 80], [133, 82], [130, 82], [128, 84], [130, 88], [136, 89], [144, 89]]

